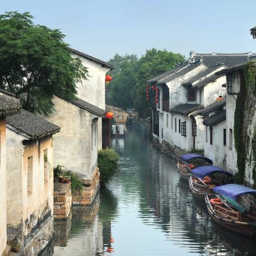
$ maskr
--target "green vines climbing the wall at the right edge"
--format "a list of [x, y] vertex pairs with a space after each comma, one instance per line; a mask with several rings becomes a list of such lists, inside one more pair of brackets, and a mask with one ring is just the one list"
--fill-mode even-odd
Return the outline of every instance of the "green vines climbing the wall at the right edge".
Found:
[[[242, 76], [242, 72], [240, 73]], [[256, 61], [244, 65], [244, 81], [240, 78], [240, 93], [236, 100], [234, 138], [237, 152], [236, 182], [244, 183], [245, 169], [252, 170], [256, 188], [256, 127], [253, 116], [256, 105]]]

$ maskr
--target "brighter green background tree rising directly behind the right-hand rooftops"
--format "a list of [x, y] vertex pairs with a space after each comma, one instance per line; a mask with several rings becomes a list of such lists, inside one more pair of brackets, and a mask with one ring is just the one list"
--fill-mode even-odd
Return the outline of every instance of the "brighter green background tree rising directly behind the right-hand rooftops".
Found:
[[149, 106], [145, 101], [146, 81], [174, 68], [179, 63], [184, 62], [184, 60], [185, 58], [181, 54], [175, 54], [167, 50], [156, 50], [156, 48], [147, 50], [145, 55], [139, 59], [139, 73], [135, 86], [134, 107], [140, 116], [148, 116]]

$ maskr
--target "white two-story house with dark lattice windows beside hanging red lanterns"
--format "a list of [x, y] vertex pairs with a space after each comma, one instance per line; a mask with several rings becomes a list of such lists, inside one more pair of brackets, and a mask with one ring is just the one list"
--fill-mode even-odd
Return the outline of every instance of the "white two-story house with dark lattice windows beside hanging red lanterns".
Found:
[[[159, 103], [152, 101], [153, 138], [170, 155], [204, 150], [204, 125], [197, 110], [225, 96], [226, 77], [215, 74], [244, 63], [251, 54], [196, 54], [186, 63], [148, 81], [160, 89]], [[151, 100], [155, 95], [150, 91]]]

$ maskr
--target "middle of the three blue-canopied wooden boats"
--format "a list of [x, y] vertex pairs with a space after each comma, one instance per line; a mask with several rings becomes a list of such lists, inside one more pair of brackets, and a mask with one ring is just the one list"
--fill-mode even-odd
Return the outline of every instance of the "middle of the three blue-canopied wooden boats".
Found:
[[213, 188], [231, 183], [232, 174], [217, 166], [200, 166], [191, 170], [189, 187], [193, 195], [204, 200], [205, 193], [214, 194]]

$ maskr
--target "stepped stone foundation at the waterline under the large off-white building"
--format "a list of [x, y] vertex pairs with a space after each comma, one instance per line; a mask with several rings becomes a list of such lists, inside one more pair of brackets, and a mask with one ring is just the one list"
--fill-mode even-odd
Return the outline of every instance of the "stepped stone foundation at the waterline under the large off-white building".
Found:
[[100, 171], [96, 167], [91, 179], [82, 180], [83, 190], [73, 194], [73, 205], [90, 205], [100, 187]]

